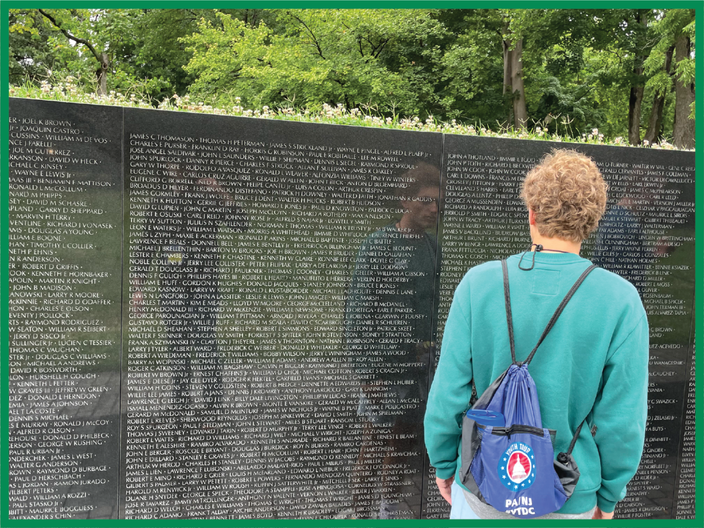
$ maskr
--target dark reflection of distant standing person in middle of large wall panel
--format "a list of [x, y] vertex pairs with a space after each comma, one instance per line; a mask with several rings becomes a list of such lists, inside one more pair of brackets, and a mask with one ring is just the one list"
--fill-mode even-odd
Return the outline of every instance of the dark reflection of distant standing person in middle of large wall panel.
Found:
[[[213, 177], [186, 177], [182, 171], [164, 182], [149, 208], [140, 246], [146, 265], [137, 266], [141, 279], [132, 293], [137, 315], [144, 298], [141, 285], [149, 263], [158, 270], [160, 315], [168, 341], [175, 387], [170, 403], [187, 409], [215, 411], [222, 406], [222, 371], [217, 346], [218, 230], [220, 225], [244, 231], [249, 223], [232, 195]], [[193, 367], [202, 383], [191, 383]]]

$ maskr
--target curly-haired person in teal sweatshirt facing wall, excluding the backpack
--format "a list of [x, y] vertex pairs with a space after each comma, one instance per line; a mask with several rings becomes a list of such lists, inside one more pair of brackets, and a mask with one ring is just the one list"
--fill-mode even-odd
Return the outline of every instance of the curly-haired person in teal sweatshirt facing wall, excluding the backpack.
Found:
[[[508, 258], [516, 357], [524, 360], [577, 277], [579, 256], [606, 206], [607, 186], [590, 158], [554, 151], [523, 183], [533, 245]], [[428, 397], [425, 443], [451, 518], [511, 517], [459, 480], [463, 413], [511, 364], [501, 263], [472, 268], [458, 285]], [[584, 417], [574, 446], [581, 477], [565, 505], [545, 518], [608, 519], [624, 498], [643, 451], [647, 418], [648, 320], [636, 288], [597, 268], [576, 291], [530, 365], [543, 427], [555, 453]], [[538, 517], [543, 518], [543, 517]]]

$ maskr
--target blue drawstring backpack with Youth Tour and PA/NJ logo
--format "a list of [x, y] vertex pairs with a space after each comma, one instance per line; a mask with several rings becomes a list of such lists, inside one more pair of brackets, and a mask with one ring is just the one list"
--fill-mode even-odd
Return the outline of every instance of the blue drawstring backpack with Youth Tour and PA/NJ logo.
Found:
[[[559, 510], [572, 496], [579, 480], [572, 449], [584, 422], [577, 427], [567, 452], [559, 453], [555, 460], [555, 431], [543, 428], [528, 364], [574, 291], [596, 265], [584, 270], [567, 292], [538, 344], [523, 362], [516, 361], [506, 260], [501, 261], [501, 267], [513, 363], [463, 417], [460, 480], [479, 500], [496, 510], [529, 519]], [[502, 424], [501, 415], [503, 425], [488, 425]]]

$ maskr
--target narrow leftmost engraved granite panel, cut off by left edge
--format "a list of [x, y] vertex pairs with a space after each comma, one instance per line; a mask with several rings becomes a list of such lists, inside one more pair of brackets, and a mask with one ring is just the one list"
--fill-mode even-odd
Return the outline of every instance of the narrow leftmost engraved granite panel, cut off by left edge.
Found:
[[117, 515], [122, 109], [10, 104], [9, 515]]

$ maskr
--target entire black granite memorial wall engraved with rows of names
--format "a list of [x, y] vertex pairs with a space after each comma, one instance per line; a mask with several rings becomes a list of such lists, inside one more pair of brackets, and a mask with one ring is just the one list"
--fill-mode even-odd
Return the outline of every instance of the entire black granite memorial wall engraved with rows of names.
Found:
[[[11, 518], [442, 518], [422, 415], [453, 290], [529, 244], [548, 142], [11, 99]], [[620, 517], [694, 515], [693, 153], [577, 145], [582, 255], [639, 289]]]

